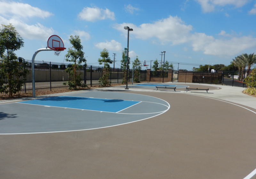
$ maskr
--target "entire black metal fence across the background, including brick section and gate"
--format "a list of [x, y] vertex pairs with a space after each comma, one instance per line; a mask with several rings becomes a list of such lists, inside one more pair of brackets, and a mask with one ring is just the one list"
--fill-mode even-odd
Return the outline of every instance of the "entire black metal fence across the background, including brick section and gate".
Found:
[[[32, 74], [31, 61], [23, 61], [23, 69], [29, 71], [26, 83], [22, 86], [20, 93], [32, 92]], [[35, 61], [35, 82], [36, 91], [52, 91], [58, 89], [68, 89], [68, 85], [63, 85], [63, 82], [69, 80], [68, 73], [65, 71], [69, 63], [52, 63], [44, 61]], [[111, 68], [109, 80], [112, 84], [122, 83], [124, 71], [120, 68]], [[81, 75], [82, 81], [87, 86], [100, 85], [98, 81], [103, 75], [103, 67], [101, 66], [85, 66], [77, 69], [77, 74]], [[195, 71], [150, 71], [140, 70], [137, 74], [139, 81], [147, 82], [171, 82], [171, 83], [205, 83], [205, 84], [220, 84], [228, 86], [246, 87], [243, 83], [244, 78], [248, 75], [247, 71], [225, 71], [225, 72], [195, 72]], [[129, 81], [132, 80], [132, 70], [129, 69]], [[7, 79], [5, 79], [7, 84]], [[3, 95], [4, 93], [0, 93]]]

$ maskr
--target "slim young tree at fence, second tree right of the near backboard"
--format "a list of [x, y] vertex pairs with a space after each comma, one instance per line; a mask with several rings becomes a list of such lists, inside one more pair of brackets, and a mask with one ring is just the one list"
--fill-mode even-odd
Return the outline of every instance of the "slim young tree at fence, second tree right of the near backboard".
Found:
[[99, 64], [104, 64], [103, 68], [103, 75], [102, 77], [99, 79], [99, 82], [101, 84], [101, 86], [106, 86], [106, 85], [111, 85], [111, 82], [108, 81], [108, 76], [111, 75], [111, 72], [109, 72], [110, 70], [110, 65], [113, 63], [113, 60], [110, 59], [109, 57], [109, 53], [108, 50], [106, 48], [104, 48], [101, 52], [100, 52], [100, 57], [98, 59]]

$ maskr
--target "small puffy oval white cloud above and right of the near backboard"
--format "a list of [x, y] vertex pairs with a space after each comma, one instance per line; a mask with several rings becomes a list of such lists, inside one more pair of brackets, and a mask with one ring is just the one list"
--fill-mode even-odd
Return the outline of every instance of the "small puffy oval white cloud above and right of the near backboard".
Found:
[[115, 14], [114, 12], [109, 11], [109, 9], [106, 8], [100, 9], [96, 6], [94, 7], [85, 7], [78, 16], [86, 21], [94, 22], [96, 20], [104, 20], [104, 19], [111, 19], [115, 20]]

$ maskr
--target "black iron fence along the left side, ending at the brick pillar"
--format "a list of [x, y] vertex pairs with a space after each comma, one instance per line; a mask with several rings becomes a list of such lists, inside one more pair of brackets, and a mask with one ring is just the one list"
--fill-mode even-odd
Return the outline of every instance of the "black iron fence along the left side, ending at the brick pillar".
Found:
[[[24, 60], [26, 66], [24, 69], [29, 71], [27, 75], [26, 83], [22, 86], [20, 93], [32, 93], [32, 73], [31, 73], [31, 60]], [[36, 91], [52, 91], [59, 89], [68, 89], [68, 85], [63, 85], [63, 82], [70, 80], [68, 73], [65, 71], [66, 68], [70, 67], [70, 63], [54, 63], [45, 61], [35, 61], [35, 82]], [[98, 81], [103, 75], [103, 67], [101, 66], [82, 66], [82, 68], [77, 68], [76, 73], [80, 75], [82, 81], [88, 86], [100, 85]], [[122, 83], [124, 78], [124, 71], [120, 68], [110, 68], [111, 75], [108, 79], [112, 84]], [[140, 81], [146, 79], [146, 71], [140, 71]], [[128, 81], [132, 80], [132, 70], [128, 71]], [[5, 83], [7, 84], [7, 78]], [[0, 93], [4, 95], [4, 93]]]

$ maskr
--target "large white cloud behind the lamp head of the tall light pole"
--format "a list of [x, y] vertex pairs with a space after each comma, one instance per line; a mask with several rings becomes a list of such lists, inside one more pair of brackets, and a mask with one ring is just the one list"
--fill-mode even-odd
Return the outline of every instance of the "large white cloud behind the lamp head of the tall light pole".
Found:
[[155, 21], [152, 24], [141, 24], [140, 26], [129, 23], [115, 24], [114, 28], [126, 35], [127, 31], [124, 30], [124, 26], [132, 28], [133, 31], [130, 34], [138, 39], [146, 40], [156, 37], [161, 41], [171, 41], [172, 44], [180, 44], [188, 41], [187, 34], [192, 30], [191, 25], [185, 25], [177, 16], [170, 16], [169, 18]]

